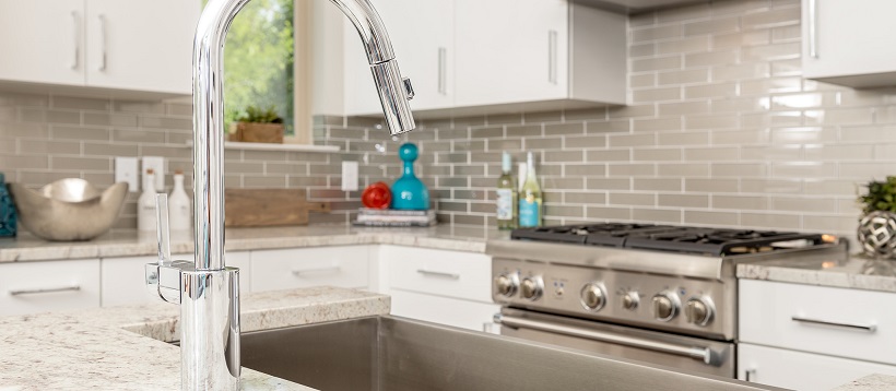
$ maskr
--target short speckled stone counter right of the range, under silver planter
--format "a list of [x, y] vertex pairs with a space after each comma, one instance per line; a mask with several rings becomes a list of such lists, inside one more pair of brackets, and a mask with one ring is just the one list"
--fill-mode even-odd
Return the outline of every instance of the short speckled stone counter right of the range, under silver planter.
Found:
[[896, 293], [896, 261], [853, 256], [846, 261], [818, 258], [741, 263], [738, 277]]

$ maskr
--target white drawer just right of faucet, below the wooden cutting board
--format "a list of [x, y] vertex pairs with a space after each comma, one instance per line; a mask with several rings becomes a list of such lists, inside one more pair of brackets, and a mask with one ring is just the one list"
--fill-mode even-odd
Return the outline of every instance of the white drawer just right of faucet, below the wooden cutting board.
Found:
[[367, 247], [318, 247], [251, 253], [256, 292], [308, 286], [366, 288]]

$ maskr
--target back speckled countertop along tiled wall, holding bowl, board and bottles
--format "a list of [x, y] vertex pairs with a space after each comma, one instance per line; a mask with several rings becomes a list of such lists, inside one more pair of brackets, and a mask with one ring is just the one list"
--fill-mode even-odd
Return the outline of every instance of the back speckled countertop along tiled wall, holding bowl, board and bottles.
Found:
[[[190, 232], [172, 232], [172, 253], [192, 253]], [[399, 245], [443, 250], [484, 252], [490, 239], [508, 238], [497, 229], [443, 224], [426, 228], [368, 228], [347, 224], [294, 227], [227, 228], [225, 249], [258, 249]], [[0, 263], [152, 256], [158, 251], [155, 233], [116, 232], [89, 241], [46, 241], [27, 233], [0, 239]]]

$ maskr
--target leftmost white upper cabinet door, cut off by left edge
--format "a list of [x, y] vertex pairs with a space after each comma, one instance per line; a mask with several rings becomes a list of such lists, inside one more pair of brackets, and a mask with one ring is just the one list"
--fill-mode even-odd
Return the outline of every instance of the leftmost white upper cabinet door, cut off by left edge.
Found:
[[0, 80], [84, 84], [84, 0], [0, 0]]

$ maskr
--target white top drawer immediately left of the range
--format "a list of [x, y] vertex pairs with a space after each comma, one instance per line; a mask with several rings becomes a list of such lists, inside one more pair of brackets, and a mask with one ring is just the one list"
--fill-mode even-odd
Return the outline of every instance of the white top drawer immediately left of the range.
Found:
[[393, 288], [492, 303], [492, 258], [481, 253], [384, 246]]

